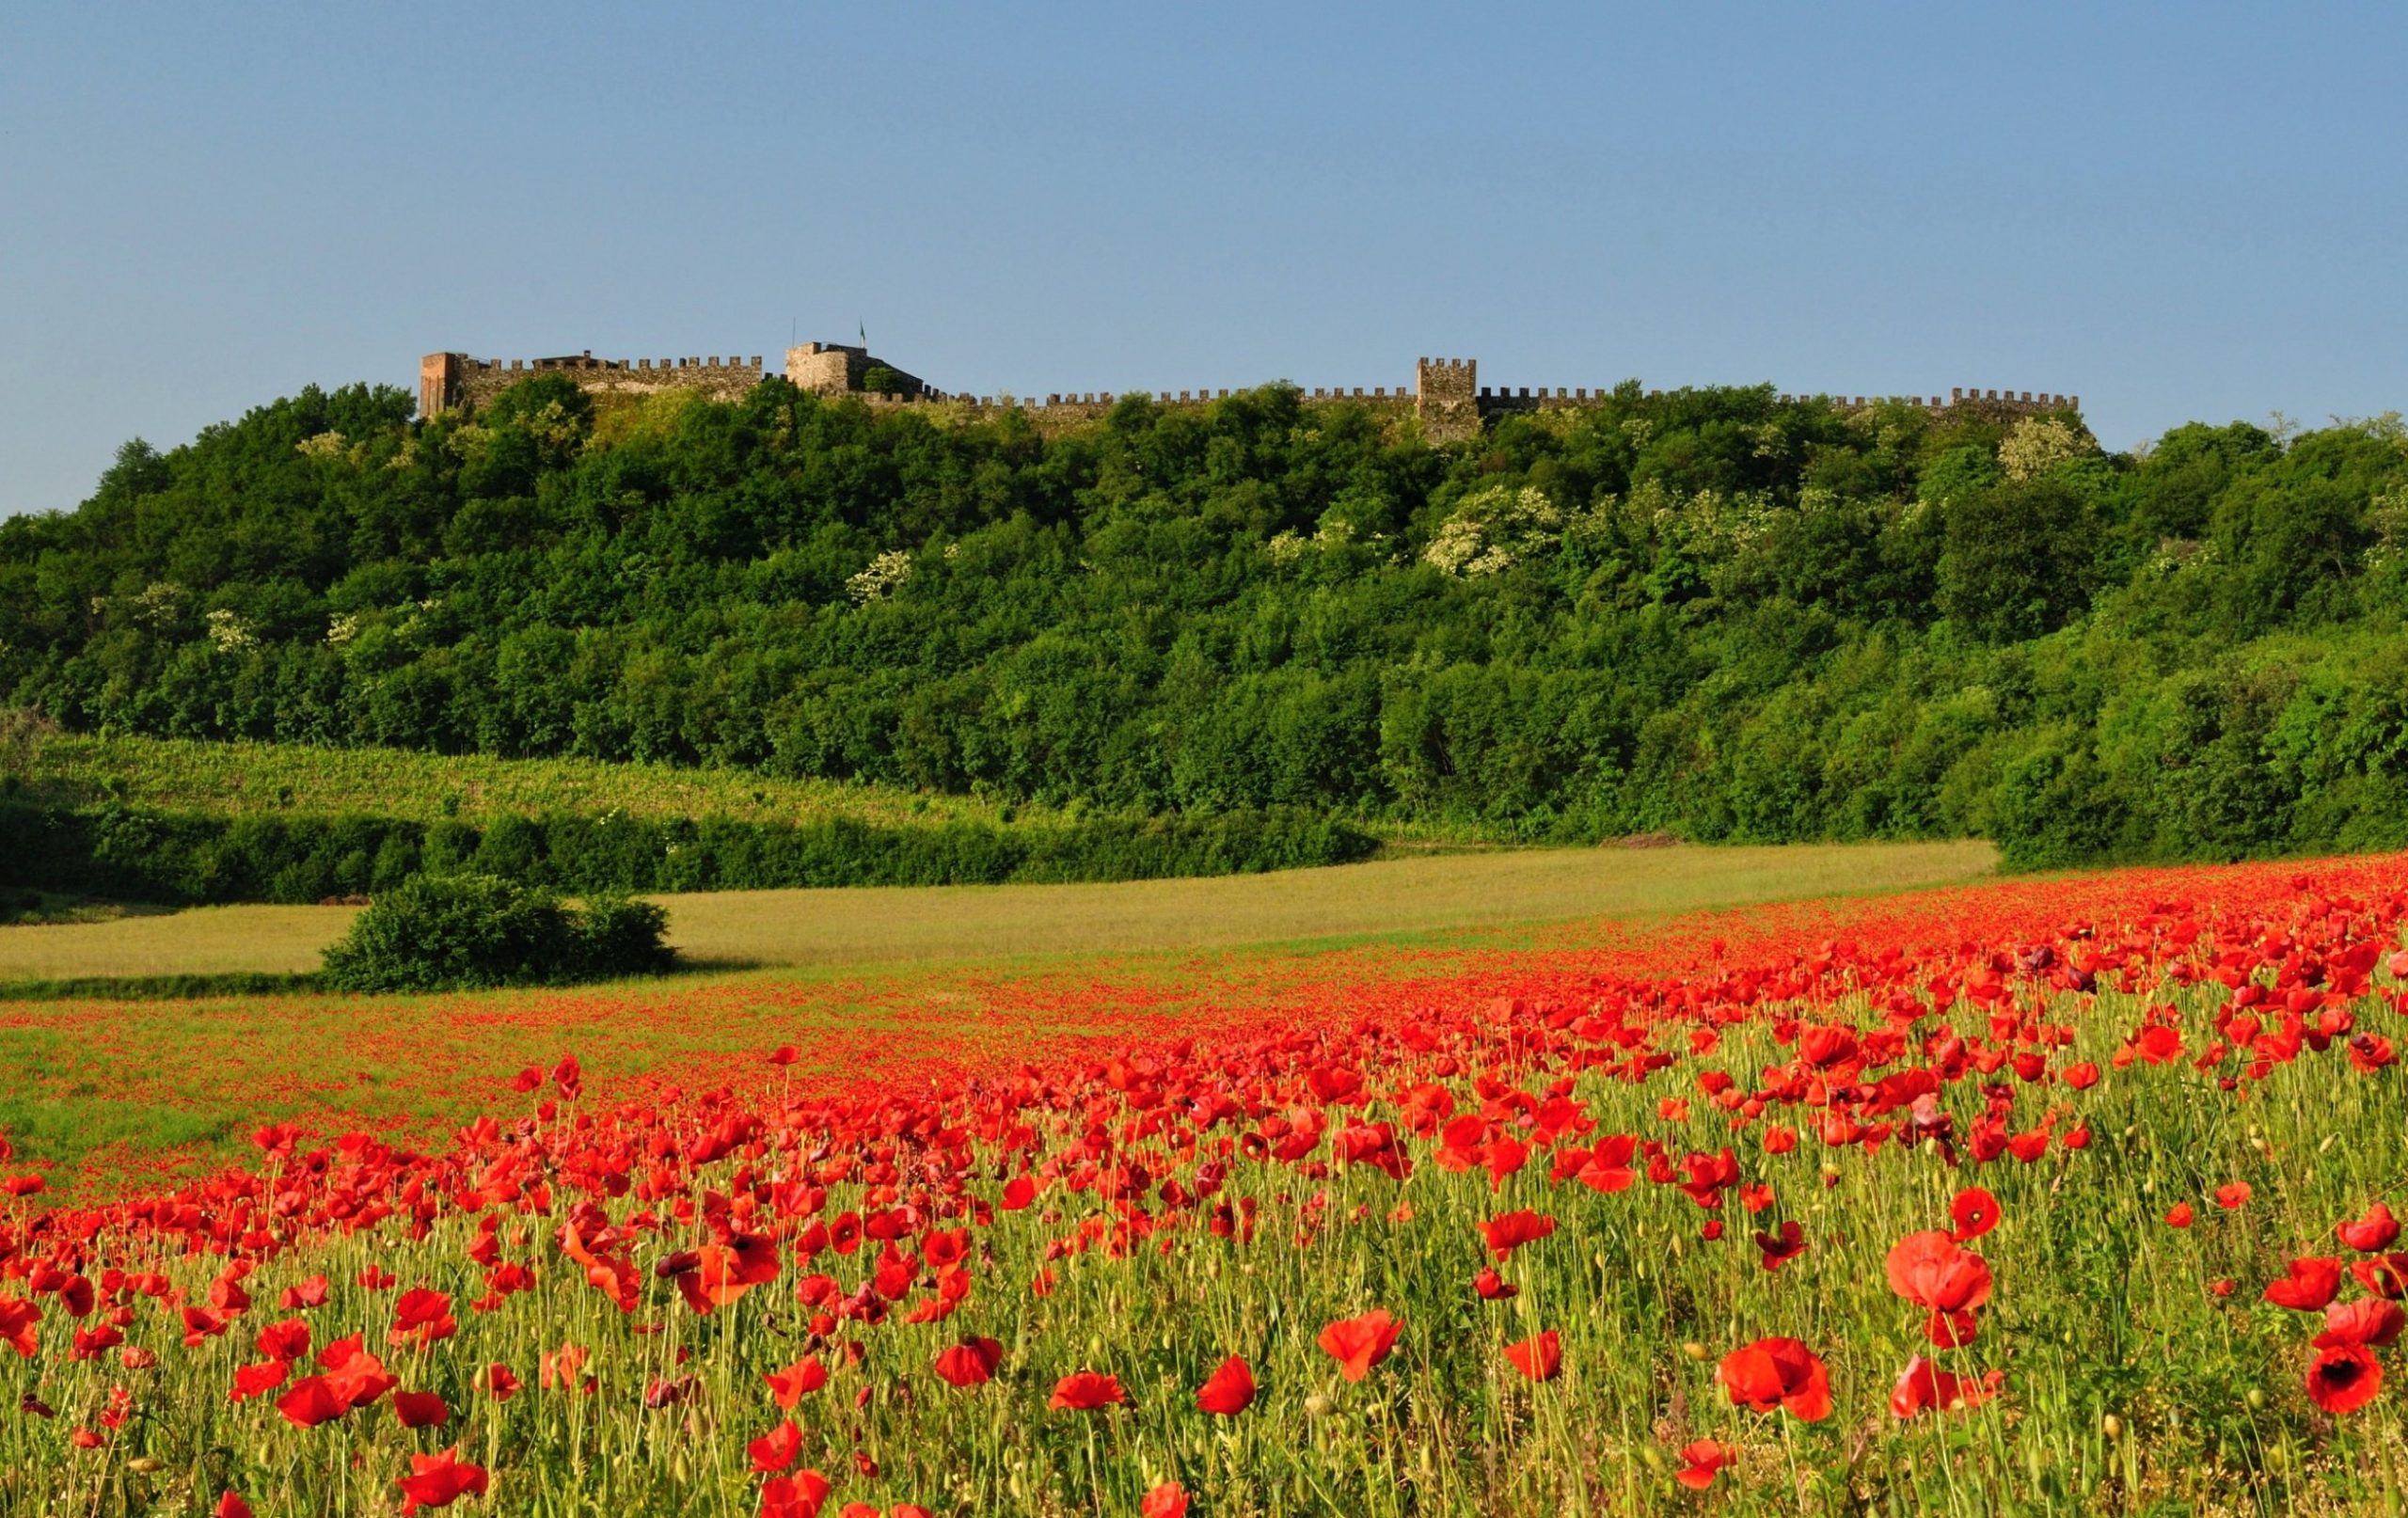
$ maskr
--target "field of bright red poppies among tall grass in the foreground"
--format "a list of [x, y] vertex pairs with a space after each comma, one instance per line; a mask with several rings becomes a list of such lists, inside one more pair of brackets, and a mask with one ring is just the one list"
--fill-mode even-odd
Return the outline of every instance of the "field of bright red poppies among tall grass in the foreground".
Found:
[[429, 1029], [0, 1159], [0, 1511], [2398, 1511], [2403, 865]]

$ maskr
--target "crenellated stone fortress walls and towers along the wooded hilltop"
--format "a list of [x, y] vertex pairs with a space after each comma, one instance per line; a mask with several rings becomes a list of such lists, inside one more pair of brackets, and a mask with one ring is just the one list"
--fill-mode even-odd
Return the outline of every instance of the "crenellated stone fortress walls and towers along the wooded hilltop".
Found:
[[[718, 357], [710, 359], [597, 359], [588, 349], [566, 359], [472, 359], [467, 354], [426, 354], [419, 361], [419, 412], [441, 412], [489, 405], [506, 388], [535, 378], [537, 373], [561, 373], [595, 395], [657, 395], [662, 390], [696, 390], [715, 400], [734, 400], [763, 378], [761, 359]], [[1045, 395], [1045, 400], [949, 395], [903, 369], [877, 359], [867, 347], [843, 342], [804, 342], [785, 349], [785, 378], [819, 395], [860, 395], [872, 405], [927, 405], [946, 402], [968, 410], [1026, 407], [1040, 424], [1069, 424], [1103, 417], [1120, 400], [1108, 390]], [[1476, 359], [1421, 359], [1413, 364], [1413, 388], [1373, 386], [1365, 390], [1308, 390], [1312, 400], [1348, 400], [1389, 412], [1411, 412], [1421, 431], [1433, 443], [1479, 436], [1493, 417], [1510, 412], [1553, 412], [1604, 405], [1613, 388], [1548, 390], [1529, 386], [1519, 390], [1491, 390], [1479, 383]], [[1228, 390], [1156, 390], [1158, 405], [1209, 405], [1228, 398]], [[1782, 395], [1782, 400], [1799, 400]], [[1840, 410], [1866, 405], [1912, 405], [1936, 414], [1975, 414], [1991, 419], [2035, 417], [2044, 412], [2078, 412], [2081, 395], [2035, 395], [2032, 390], [1950, 390], [1938, 395], [1871, 398], [1830, 395]]]

